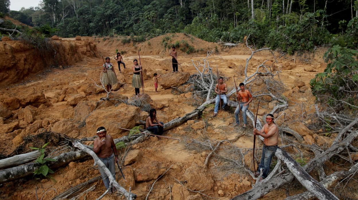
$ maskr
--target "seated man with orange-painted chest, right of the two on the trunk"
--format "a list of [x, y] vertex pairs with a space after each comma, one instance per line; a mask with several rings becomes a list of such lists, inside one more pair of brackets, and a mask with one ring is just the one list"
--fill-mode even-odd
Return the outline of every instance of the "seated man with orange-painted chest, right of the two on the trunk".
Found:
[[246, 110], [248, 108], [248, 104], [252, 101], [253, 98], [252, 98], [252, 95], [251, 95], [250, 91], [245, 89], [245, 84], [240, 83], [239, 87], [240, 87], [240, 91], [238, 91], [236, 93], [236, 98], [237, 98], [238, 101], [240, 101], [240, 99], [241, 99], [241, 102], [237, 106], [237, 108], [236, 108], [236, 110], [234, 112], [234, 116], [235, 116], [235, 119], [236, 119], [236, 125], [235, 126], [238, 126], [240, 124], [240, 122], [239, 122], [239, 114], [240, 114], [240, 110], [241, 110], [242, 111], [242, 118], [243, 118], [243, 121], [244, 121], [244, 125], [243, 125], [242, 128], [246, 128], [246, 124], [247, 124]]

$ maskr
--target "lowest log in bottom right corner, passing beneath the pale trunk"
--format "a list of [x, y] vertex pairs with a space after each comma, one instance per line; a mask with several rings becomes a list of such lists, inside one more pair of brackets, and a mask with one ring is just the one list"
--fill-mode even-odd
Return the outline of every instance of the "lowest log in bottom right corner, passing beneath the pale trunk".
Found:
[[[357, 172], [357, 170], [358, 170], [358, 163], [353, 165], [353, 167], [351, 167], [348, 171], [337, 171], [329, 176], [326, 176], [320, 182], [320, 184], [322, 184], [325, 188], [328, 188], [328, 187], [332, 186], [338, 180], [348, 177], [352, 174], [355, 174]], [[285, 200], [308, 200], [308, 199], [313, 199], [314, 197], [315, 196], [311, 192], [306, 191], [301, 194], [289, 196]]]

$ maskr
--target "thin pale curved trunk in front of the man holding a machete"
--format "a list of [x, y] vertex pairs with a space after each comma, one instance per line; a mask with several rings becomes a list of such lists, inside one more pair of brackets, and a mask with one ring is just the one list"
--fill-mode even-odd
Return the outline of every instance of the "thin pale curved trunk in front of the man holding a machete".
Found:
[[118, 192], [120, 192], [121, 194], [123, 194], [128, 200], [132, 200], [135, 199], [137, 197], [137, 195], [133, 194], [133, 193], [129, 193], [127, 192], [126, 189], [124, 189], [122, 186], [120, 186], [115, 177], [113, 177], [112, 173], [110, 172], [110, 170], [108, 170], [108, 168], [105, 166], [105, 164], [103, 164], [103, 162], [98, 158], [98, 156], [96, 155], [95, 152], [93, 152], [92, 150], [90, 150], [89, 148], [83, 146], [81, 143], [76, 142], [74, 144], [74, 147], [79, 148], [80, 150], [88, 153], [89, 155], [91, 155], [93, 157], [93, 160], [95, 160], [95, 163], [97, 163], [98, 167], [101, 167], [103, 171], [105, 171], [106, 175], [108, 176], [108, 179], [110, 180], [110, 182], [112, 182], [113, 186], [117, 189]]

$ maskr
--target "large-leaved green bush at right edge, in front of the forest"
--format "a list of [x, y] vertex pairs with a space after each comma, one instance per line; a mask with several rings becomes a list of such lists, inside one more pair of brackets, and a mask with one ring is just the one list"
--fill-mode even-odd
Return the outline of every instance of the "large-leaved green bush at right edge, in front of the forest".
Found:
[[323, 58], [327, 67], [324, 72], [316, 74], [315, 78], [311, 79], [312, 93], [317, 97], [332, 97], [328, 103], [349, 99], [349, 91], [358, 88], [358, 51], [334, 45]]

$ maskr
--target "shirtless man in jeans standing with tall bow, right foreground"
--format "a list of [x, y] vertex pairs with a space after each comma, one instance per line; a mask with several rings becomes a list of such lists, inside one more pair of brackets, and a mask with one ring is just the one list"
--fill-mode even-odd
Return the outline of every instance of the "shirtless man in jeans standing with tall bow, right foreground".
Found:
[[260, 165], [257, 168], [256, 175], [260, 175], [260, 170], [262, 169], [262, 177], [260, 180], [265, 179], [270, 171], [270, 164], [272, 156], [275, 154], [277, 143], [279, 140], [279, 128], [274, 122], [274, 116], [272, 114], [266, 115], [266, 124], [261, 128], [261, 130], [253, 129], [253, 135], [262, 136], [263, 139], [263, 148]]

